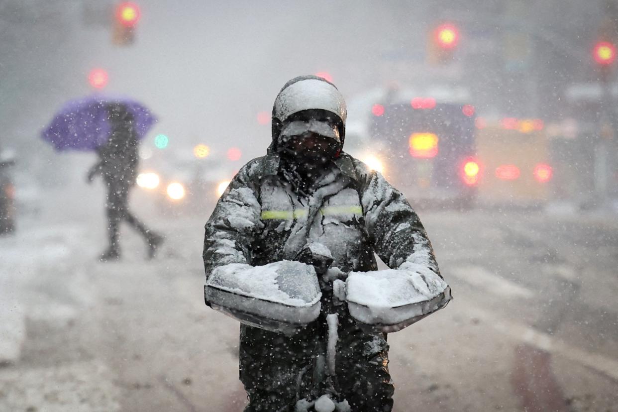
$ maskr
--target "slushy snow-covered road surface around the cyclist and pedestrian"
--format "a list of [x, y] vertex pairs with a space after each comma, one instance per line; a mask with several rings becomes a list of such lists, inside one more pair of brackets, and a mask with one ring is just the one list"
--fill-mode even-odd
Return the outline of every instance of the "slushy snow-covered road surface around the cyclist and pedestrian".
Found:
[[[55, 202], [0, 238], [0, 410], [242, 410], [238, 325], [203, 304], [208, 211], [143, 211], [160, 256], [123, 228], [103, 264], [98, 209]], [[616, 216], [420, 217], [455, 300], [389, 335], [397, 411], [616, 410]]]

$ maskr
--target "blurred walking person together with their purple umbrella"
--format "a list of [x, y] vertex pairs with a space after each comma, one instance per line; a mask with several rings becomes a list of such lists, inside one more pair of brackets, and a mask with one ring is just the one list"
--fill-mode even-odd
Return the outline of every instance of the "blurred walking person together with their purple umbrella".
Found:
[[156, 119], [142, 104], [129, 99], [91, 96], [67, 103], [41, 136], [58, 151], [95, 151], [99, 161], [88, 170], [88, 183], [101, 175], [107, 186], [108, 248], [101, 261], [119, 259], [121, 221], [137, 230], [154, 258], [164, 240], [129, 211], [129, 191], [135, 185], [139, 140]]

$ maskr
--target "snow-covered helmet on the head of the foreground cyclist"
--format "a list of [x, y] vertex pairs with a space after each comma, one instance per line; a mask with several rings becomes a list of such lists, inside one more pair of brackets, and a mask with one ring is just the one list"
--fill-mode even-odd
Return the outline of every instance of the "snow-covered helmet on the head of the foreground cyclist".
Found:
[[289, 123], [286, 128], [290, 127], [295, 132], [299, 132], [299, 128], [305, 127], [308, 131], [336, 138], [343, 146], [347, 117], [344, 97], [331, 82], [313, 75], [295, 77], [279, 91], [273, 105], [273, 146], [277, 145], [277, 139], [281, 135], [286, 120], [303, 111], [326, 111], [334, 114], [337, 118], [337, 130], [329, 135], [325, 132], [324, 125], [316, 124], [316, 122], [304, 124], [292, 122], [294, 124]]

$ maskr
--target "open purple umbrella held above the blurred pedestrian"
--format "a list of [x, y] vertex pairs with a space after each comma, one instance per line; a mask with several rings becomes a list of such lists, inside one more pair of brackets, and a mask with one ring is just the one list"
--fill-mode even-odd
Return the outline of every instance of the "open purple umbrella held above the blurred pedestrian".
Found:
[[108, 141], [111, 127], [108, 122], [107, 105], [111, 103], [122, 103], [127, 106], [133, 115], [133, 126], [140, 140], [156, 122], [156, 117], [150, 110], [137, 101], [94, 95], [66, 103], [49, 126], [41, 132], [41, 137], [54, 145], [58, 151], [95, 150]]

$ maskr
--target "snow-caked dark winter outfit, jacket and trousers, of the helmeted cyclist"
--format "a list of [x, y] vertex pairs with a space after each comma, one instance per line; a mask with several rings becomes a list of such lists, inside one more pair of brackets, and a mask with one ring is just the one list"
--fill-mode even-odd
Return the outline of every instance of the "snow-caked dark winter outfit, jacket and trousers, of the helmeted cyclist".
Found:
[[[206, 277], [231, 263], [294, 260], [309, 242], [327, 246], [332, 267], [343, 272], [376, 270], [376, 253], [392, 269], [408, 262], [439, 275], [425, 229], [402, 193], [345, 153], [308, 196], [284, 179], [273, 151], [253, 159], [234, 177], [205, 229]], [[347, 388], [344, 397], [353, 411], [390, 410], [386, 335], [363, 333], [342, 311], [337, 356], [352, 368], [339, 379]], [[248, 410], [293, 410], [303, 385], [310, 385], [303, 379], [313, 362], [317, 327], [285, 337], [241, 326], [240, 375], [251, 400]]]

